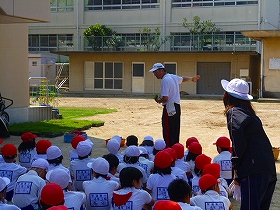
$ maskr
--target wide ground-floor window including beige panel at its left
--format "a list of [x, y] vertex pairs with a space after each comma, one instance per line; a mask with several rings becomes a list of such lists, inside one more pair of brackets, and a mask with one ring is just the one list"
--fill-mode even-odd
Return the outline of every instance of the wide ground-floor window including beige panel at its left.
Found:
[[122, 90], [123, 63], [85, 62], [86, 90]]

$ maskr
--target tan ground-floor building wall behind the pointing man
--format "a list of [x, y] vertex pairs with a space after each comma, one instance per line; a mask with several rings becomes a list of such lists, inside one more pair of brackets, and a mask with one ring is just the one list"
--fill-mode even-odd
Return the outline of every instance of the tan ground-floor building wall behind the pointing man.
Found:
[[[144, 93], [157, 93], [161, 81], [156, 79], [149, 70], [154, 63], [177, 63], [177, 74], [193, 76], [197, 72], [198, 62], [230, 62], [231, 78], [240, 76], [240, 69], [250, 69], [251, 55], [254, 53], [171, 53], [171, 52], [138, 52], [138, 53], [70, 53], [69, 90], [84, 91], [84, 62], [123, 62], [123, 93], [132, 92], [132, 62], [145, 62]], [[255, 87], [257, 89], [259, 87]], [[196, 83], [183, 83], [181, 90], [196, 94]], [[94, 92], [94, 91], [93, 91]], [[118, 92], [118, 91], [116, 91]]]

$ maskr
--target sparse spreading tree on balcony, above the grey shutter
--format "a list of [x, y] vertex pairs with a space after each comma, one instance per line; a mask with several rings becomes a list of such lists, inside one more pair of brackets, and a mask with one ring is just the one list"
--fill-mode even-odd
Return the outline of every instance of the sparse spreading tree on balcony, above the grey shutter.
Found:
[[[212, 42], [212, 34], [221, 30], [216, 27], [216, 24], [213, 23], [212, 20], [201, 21], [199, 16], [194, 16], [193, 22], [191, 23], [187, 21], [187, 18], [184, 17], [181, 25], [189, 29], [190, 33], [197, 38], [197, 40], [194, 39], [194, 46], [196, 46], [198, 50], [201, 49], [201, 46], [204, 46], [205, 43], [209, 41]], [[211, 36], [209, 36], [209, 34]]]

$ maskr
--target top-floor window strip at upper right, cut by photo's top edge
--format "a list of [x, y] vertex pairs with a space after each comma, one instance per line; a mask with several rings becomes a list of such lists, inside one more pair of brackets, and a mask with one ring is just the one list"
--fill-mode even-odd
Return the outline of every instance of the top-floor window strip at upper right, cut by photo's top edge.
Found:
[[212, 7], [229, 5], [257, 5], [258, 0], [172, 0], [172, 7]]

